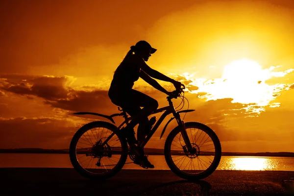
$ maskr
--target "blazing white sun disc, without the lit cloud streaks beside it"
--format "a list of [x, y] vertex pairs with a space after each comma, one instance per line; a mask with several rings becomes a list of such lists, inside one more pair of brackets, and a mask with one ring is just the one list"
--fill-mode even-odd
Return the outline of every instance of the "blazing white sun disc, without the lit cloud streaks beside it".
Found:
[[255, 103], [265, 106], [272, 99], [272, 89], [265, 83], [270, 73], [253, 60], [242, 59], [233, 61], [223, 69], [220, 85], [222, 86], [216, 97], [233, 98], [233, 102]]

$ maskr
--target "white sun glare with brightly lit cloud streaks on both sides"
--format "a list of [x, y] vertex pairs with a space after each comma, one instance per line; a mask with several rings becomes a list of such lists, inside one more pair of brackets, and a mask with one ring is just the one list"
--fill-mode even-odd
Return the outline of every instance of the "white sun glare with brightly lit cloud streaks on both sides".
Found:
[[280, 67], [263, 68], [257, 61], [239, 59], [224, 66], [220, 78], [199, 78], [196, 73], [184, 73], [183, 77], [191, 81], [191, 87], [197, 87], [189, 92], [197, 94], [198, 98], [206, 101], [231, 98], [232, 103], [244, 104], [246, 113], [260, 114], [266, 106], [280, 107], [280, 103], [274, 100], [282, 91], [291, 89], [291, 84], [267, 83], [273, 77], [294, 72], [294, 69], [274, 71]]

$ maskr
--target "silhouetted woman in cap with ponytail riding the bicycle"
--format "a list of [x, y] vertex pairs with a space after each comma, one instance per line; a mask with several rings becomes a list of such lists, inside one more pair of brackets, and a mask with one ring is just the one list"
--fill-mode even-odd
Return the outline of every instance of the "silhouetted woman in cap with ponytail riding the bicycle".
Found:
[[[127, 140], [139, 145], [144, 141], [146, 135], [151, 129], [148, 116], [157, 109], [158, 102], [154, 98], [132, 89], [134, 82], [141, 77], [155, 89], [169, 96], [171, 95], [171, 92], [164, 89], [153, 78], [171, 82], [176, 89], [181, 87], [180, 82], [153, 70], [146, 64], [145, 61], [148, 61], [151, 54], [156, 50], [157, 49], [152, 48], [150, 44], [144, 40], [137, 42], [135, 46], [131, 46], [123, 61], [114, 72], [108, 91], [108, 96], [111, 101], [123, 108], [123, 110], [130, 116], [134, 117], [134, 119], [125, 127], [123, 132], [126, 132], [124, 134], [127, 134]], [[141, 109], [141, 107], [143, 108]], [[138, 123], [137, 141], [133, 134], [133, 128]], [[154, 165], [152, 165], [148, 161], [147, 156], [144, 155], [143, 149], [141, 156], [136, 157], [134, 163], [140, 165], [142, 162], [148, 168], [154, 168]]]

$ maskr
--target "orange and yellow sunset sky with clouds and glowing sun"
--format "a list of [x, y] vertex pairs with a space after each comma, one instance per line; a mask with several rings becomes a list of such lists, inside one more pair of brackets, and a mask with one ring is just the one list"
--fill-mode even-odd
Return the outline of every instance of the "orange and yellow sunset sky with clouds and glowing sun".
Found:
[[[3, 0], [0, 148], [68, 148], [94, 120], [72, 113], [116, 113], [113, 72], [147, 40], [158, 49], [147, 64], [187, 85], [185, 121], [213, 128], [223, 151], [294, 152], [293, 11], [291, 0]], [[135, 88], [167, 105], [142, 79]], [[163, 148], [173, 125], [147, 147]]]

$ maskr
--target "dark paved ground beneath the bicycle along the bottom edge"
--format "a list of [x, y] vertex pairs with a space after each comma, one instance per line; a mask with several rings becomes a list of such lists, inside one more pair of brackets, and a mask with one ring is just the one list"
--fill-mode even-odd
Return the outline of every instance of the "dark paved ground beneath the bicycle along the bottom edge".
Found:
[[162, 170], [122, 170], [104, 181], [64, 168], [0, 168], [0, 176], [0, 196], [294, 196], [294, 172], [215, 171], [195, 182]]

